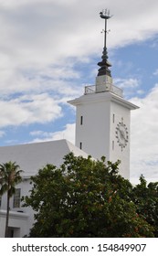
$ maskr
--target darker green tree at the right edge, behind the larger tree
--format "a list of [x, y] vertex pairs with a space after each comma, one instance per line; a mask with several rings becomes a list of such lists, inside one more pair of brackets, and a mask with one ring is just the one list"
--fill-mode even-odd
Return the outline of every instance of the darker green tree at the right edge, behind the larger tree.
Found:
[[137, 213], [154, 227], [154, 236], [158, 237], [158, 182], [147, 184], [141, 176], [140, 184], [133, 187], [132, 200], [137, 206]]

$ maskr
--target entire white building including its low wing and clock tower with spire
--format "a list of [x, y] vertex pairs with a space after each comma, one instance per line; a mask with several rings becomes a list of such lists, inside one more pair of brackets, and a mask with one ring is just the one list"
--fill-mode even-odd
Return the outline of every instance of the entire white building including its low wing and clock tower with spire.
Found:
[[[68, 101], [76, 106], [76, 145], [66, 140], [37, 144], [22, 144], [0, 147], [0, 163], [8, 161], [20, 165], [23, 182], [16, 186], [16, 195], [11, 198], [9, 230], [11, 237], [23, 237], [29, 233], [34, 221], [31, 208], [20, 206], [20, 197], [28, 195], [31, 186], [30, 176], [37, 174], [45, 165], [61, 165], [63, 157], [70, 152], [74, 155], [91, 155], [99, 158], [104, 155], [112, 162], [121, 160], [120, 172], [130, 178], [130, 119], [131, 110], [138, 107], [123, 99], [123, 91], [112, 83], [111, 64], [108, 62], [106, 48], [106, 23], [110, 18], [100, 13], [105, 19], [105, 43], [96, 83], [85, 87], [84, 95]], [[6, 195], [2, 197], [0, 208], [0, 237], [5, 234]]]

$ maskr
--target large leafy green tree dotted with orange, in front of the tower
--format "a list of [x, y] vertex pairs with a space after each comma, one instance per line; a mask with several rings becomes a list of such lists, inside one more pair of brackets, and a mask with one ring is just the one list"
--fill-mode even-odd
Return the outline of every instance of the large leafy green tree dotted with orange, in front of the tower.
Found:
[[153, 237], [136, 212], [132, 185], [118, 174], [119, 161], [65, 156], [32, 177], [25, 206], [35, 211], [30, 237]]

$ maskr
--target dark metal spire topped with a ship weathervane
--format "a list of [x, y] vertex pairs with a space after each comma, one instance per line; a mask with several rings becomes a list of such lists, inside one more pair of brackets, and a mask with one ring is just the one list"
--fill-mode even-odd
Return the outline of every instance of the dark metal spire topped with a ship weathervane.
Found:
[[108, 75], [111, 77], [111, 70], [109, 69], [111, 67], [111, 63], [108, 61], [108, 51], [107, 51], [107, 19], [111, 18], [110, 11], [103, 10], [100, 12], [100, 17], [105, 19], [105, 30], [104, 30], [104, 48], [101, 56], [101, 61], [98, 63], [100, 66], [98, 76], [102, 75]]

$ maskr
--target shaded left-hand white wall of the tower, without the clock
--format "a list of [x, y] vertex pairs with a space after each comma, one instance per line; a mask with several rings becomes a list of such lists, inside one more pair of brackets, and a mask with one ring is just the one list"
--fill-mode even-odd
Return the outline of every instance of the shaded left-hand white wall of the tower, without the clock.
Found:
[[[92, 96], [92, 95], [90, 95]], [[108, 101], [83, 101], [77, 106], [76, 146], [94, 158], [110, 157], [110, 104]], [[83, 123], [80, 124], [80, 117]]]

